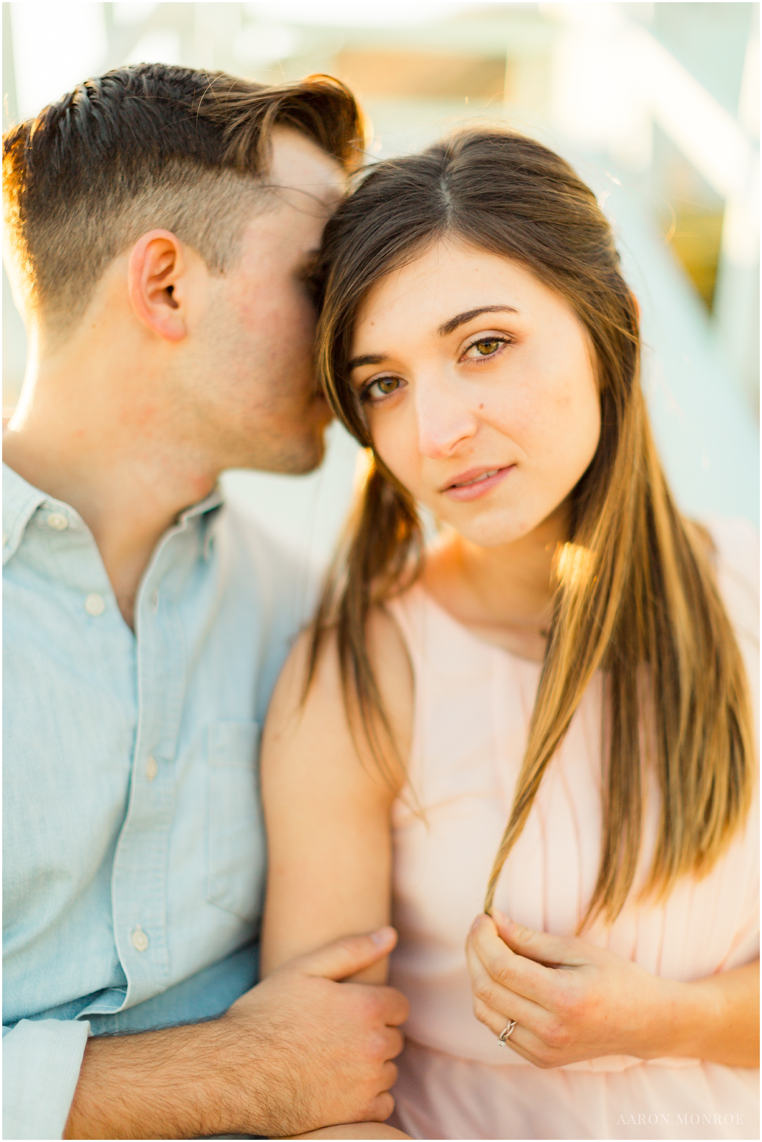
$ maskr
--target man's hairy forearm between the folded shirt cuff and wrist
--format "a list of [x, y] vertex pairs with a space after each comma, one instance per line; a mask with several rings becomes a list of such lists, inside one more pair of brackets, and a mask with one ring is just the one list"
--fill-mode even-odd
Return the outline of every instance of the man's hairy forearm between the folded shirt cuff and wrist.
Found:
[[[245, 1129], [226, 1081], [234, 1029], [222, 1020], [88, 1042], [66, 1139], [187, 1139]], [[233, 1045], [234, 1046], [234, 1045]], [[228, 1065], [228, 1070], [229, 1070]]]

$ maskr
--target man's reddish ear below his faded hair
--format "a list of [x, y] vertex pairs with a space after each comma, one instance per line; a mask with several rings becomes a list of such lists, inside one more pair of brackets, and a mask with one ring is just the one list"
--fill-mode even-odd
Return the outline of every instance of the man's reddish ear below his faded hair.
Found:
[[136, 317], [168, 341], [187, 333], [185, 306], [187, 258], [169, 230], [151, 230], [135, 243], [128, 263], [128, 292]]

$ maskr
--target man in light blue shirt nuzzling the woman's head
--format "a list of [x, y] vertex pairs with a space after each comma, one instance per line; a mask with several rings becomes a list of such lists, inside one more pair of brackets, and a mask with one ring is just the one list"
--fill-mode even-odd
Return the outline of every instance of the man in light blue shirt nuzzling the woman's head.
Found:
[[394, 931], [252, 987], [258, 735], [302, 617], [298, 569], [216, 490], [321, 460], [309, 267], [357, 107], [325, 78], [140, 65], [3, 144], [30, 341], [5, 444], [3, 1135], [381, 1123], [406, 1003], [338, 981]]

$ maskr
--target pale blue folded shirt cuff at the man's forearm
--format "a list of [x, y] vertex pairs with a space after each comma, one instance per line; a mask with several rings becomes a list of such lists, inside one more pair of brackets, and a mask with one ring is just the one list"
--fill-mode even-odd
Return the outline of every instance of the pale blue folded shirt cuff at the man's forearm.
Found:
[[90, 1034], [87, 1020], [23, 1019], [2, 1028], [2, 1136], [63, 1137]]

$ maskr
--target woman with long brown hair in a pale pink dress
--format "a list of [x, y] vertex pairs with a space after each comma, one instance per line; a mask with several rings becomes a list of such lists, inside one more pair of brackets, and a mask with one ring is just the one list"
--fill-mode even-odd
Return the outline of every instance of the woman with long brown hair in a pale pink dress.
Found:
[[264, 970], [394, 919], [413, 1136], [754, 1136], [756, 540], [674, 506], [608, 224], [472, 131], [324, 260], [371, 459], [266, 732]]

